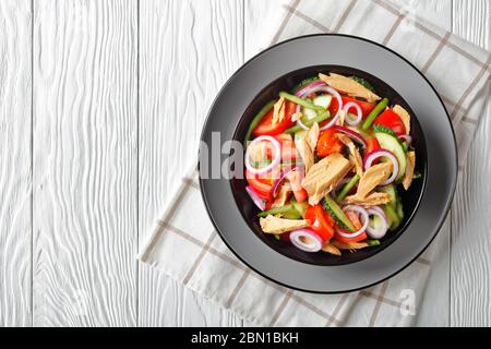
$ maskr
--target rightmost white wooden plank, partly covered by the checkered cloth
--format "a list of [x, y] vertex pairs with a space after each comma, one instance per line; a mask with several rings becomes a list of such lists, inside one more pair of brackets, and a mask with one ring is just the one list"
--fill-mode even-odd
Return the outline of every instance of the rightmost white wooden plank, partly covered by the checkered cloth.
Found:
[[[454, 0], [453, 32], [491, 49], [488, 0]], [[451, 325], [491, 325], [491, 103], [470, 148], [453, 206]]]

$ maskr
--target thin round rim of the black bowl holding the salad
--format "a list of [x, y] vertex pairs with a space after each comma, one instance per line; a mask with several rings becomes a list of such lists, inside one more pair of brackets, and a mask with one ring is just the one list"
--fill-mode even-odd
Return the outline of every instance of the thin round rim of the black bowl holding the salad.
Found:
[[[271, 245], [270, 243], [264, 242], [264, 243], [266, 243], [267, 246], [271, 248], [273, 251], [275, 251], [275, 252], [277, 252], [277, 253], [280, 253], [280, 254], [285, 255], [285, 256], [288, 257], [288, 258], [292, 258], [292, 260], [295, 260], [295, 261], [297, 261], [297, 262], [300, 262], [300, 263], [306, 263], [306, 264], [311, 264], [311, 265], [320, 265], [320, 266], [336, 266], [336, 265], [346, 265], [346, 264], [358, 263], [358, 262], [361, 262], [361, 261], [363, 261], [363, 260], [373, 257], [374, 255], [381, 253], [383, 250], [385, 250], [385, 249], [388, 248], [391, 244], [393, 244], [393, 243], [394, 243], [398, 238], [400, 238], [400, 236], [407, 230], [407, 228], [410, 226], [412, 219], [415, 218], [415, 216], [416, 216], [416, 214], [417, 214], [417, 212], [418, 212], [418, 209], [419, 209], [420, 203], [421, 203], [421, 201], [422, 201], [422, 196], [423, 196], [424, 190], [426, 190], [426, 188], [427, 188], [427, 182], [428, 182], [428, 181], [427, 181], [427, 171], [428, 171], [427, 140], [426, 140], [426, 136], [424, 136], [424, 131], [422, 130], [422, 127], [421, 127], [421, 124], [419, 123], [418, 118], [416, 117], [416, 113], [412, 111], [411, 106], [410, 106], [410, 105], [403, 98], [403, 96], [400, 96], [399, 93], [398, 93], [397, 91], [395, 91], [391, 85], [388, 85], [388, 84], [387, 84], [386, 82], [384, 82], [382, 79], [372, 75], [370, 72], [361, 71], [361, 70], [359, 70], [359, 69], [354, 69], [354, 68], [347, 67], [347, 65], [325, 64], [325, 67], [330, 67], [330, 65], [331, 65], [331, 67], [335, 67], [336, 69], [351, 69], [351, 70], [355, 70], [355, 71], [360, 71], [360, 72], [363, 72], [363, 73], [367, 74], [367, 75], [370, 75], [370, 76], [372, 76], [372, 77], [375, 77], [376, 80], [381, 81], [384, 85], [386, 85], [391, 91], [393, 91], [393, 92], [396, 94], [396, 96], [397, 96], [398, 98], [400, 98], [400, 100], [404, 101], [404, 104], [409, 108], [409, 115], [411, 116], [411, 118], [414, 118], [414, 119], [416, 120], [416, 123], [418, 124], [418, 128], [419, 128], [420, 131], [421, 131], [420, 134], [421, 134], [421, 137], [422, 137], [422, 140], [423, 140], [423, 145], [424, 145], [424, 148], [421, 149], [421, 151], [424, 152], [424, 163], [423, 163], [423, 166], [422, 166], [422, 169], [423, 169], [423, 170], [422, 170], [422, 184], [421, 184], [421, 190], [420, 190], [420, 191], [418, 192], [418, 194], [417, 194], [417, 195], [418, 195], [418, 198], [417, 198], [417, 201], [416, 201], [415, 207], [411, 209], [410, 215], [408, 215], [408, 218], [406, 219], [406, 222], [405, 222], [404, 226], [402, 226], [400, 228], [397, 228], [396, 231], [393, 231], [393, 232], [392, 232], [392, 236], [390, 237], [390, 238], [391, 238], [391, 241], [390, 241], [388, 243], [384, 243], [384, 244], [381, 243], [381, 245], [372, 248], [372, 249], [373, 249], [373, 250], [372, 250], [373, 252], [370, 253], [370, 254], [368, 254], [368, 255], [364, 255], [364, 256], [362, 256], [362, 257], [359, 257], [359, 258], [356, 260], [356, 261], [349, 261], [349, 260], [346, 260], [346, 258], [343, 258], [343, 257], [342, 257], [342, 260], [338, 260], [338, 261], [333, 262], [333, 263], [315, 263], [315, 262], [313, 262], [313, 261], [306, 261], [306, 260], [301, 260], [301, 258], [299, 258], [299, 257], [297, 257], [297, 256], [295, 256], [295, 255], [286, 254], [286, 253], [284, 253], [284, 252], [282, 252], [282, 251], [278, 251], [277, 249], [275, 249], [275, 248], [274, 248], [273, 245]], [[252, 98], [252, 100], [251, 100], [251, 103], [249, 104], [249, 106], [251, 106], [251, 105], [254, 103], [254, 100], [258, 99], [259, 96], [260, 96], [266, 88], [268, 88], [272, 84], [274, 84], [275, 82], [280, 81], [280, 80], [283, 80], [283, 79], [286, 79], [289, 74], [296, 73], [296, 72], [298, 72], [298, 71], [300, 71], [300, 70], [304, 70], [304, 69], [315, 69], [315, 68], [318, 68], [318, 67], [321, 67], [321, 65], [302, 67], [302, 68], [299, 68], [299, 69], [297, 69], [297, 70], [290, 71], [290, 72], [284, 74], [283, 76], [277, 77], [275, 81], [272, 81], [272, 82], [270, 82], [266, 86], [264, 86], [264, 87], [263, 87], [263, 88], [262, 88], [262, 89], [261, 89], [261, 91]], [[249, 107], [248, 107], [248, 109], [249, 109]], [[246, 111], [244, 111], [244, 113], [242, 115], [241, 118], [243, 118], [243, 116], [246, 115], [246, 112], [248, 111], [248, 109], [246, 109]], [[240, 122], [240, 121], [239, 121], [239, 122]], [[236, 132], [233, 133], [233, 136], [235, 136], [235, 135], [237, 135], [237, 129], [236, 129]], [[242, 142], [242, 140], [240, 140], [240, 142]], [[231, 180], [231, 179], [229, 180], [229, 182], [230, 182], [230, 186], [232, 186], [232, 180]], [[233, 197], [235, 197], [235, 201], [236, 201], [236, 205], [238, 206], [238, 209], [239, 209], [239, 212], [240, 212], [242, 218], [243, 218], [246, 221], [248, 221], [247, 217], [246, 217], [244, 214], [243, 214], [243, 210], [242, 210], [242, 209], [240, 208], [240, 206], [239, 206], [239, 202], [238, 202], [238, 200], [237, 200], [237, 193], [236, 193], [236, 191], [233, 190], [233, 188], [231, 188], [231, 191], [232, 191], [232, 194], [233, 194]], [[255, 231], [255, 229], [254, 229], [253, 227], [251, 227], [251, 225], [249, 224], [249, 221], [248, 221], [248, 225], [249, 225], [249, 228], [251, 228], [251, 230], [252, 230], [255, 234], [258, 234], [258, 232]], [[319, 252], [318, 252], [318, 253], [319, 253]], [[354, 253], [358, 253], [358, 251], [357, 251], [357, 252], [354, 252]]]

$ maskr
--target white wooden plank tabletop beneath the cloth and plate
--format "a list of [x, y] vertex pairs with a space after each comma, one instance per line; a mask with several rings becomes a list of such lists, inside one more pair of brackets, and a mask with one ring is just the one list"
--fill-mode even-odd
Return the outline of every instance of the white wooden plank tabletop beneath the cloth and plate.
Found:
[[[0, 326], [248, 325], [135, 255], [278, 2], [0, 0]], [[491, 49], [491, 1], [399, 2]], [[490, 136], [419, 325], [491, 325]]]

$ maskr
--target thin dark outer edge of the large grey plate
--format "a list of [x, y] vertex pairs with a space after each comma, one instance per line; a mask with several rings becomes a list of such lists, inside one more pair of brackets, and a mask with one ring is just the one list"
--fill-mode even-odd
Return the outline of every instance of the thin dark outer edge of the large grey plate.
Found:
[[[214, 98], [213, 103], [211, 104], [209, 110], [208, 110], [208, 112], [207, 112], [207, 116], [206, 116], [206, 119], [205, 119], [203, 125], [206, 125], [207, 122], [208, 122], [208, 119], [211, 118], [212, 107], [213, 107], [213, 106], [216, 104], [216, 101], [220, 98], [220, 96], [221, 96], [221, 95], [224, 94], [224, 92], [227, 89], [227, 87], [229, 86], [229, 84], [231, 83], [231, 81], [235, 79], [235, 76], [236, 76], [236, 75], [237, 75], [237, 74], [238, 74], [246, 65], [249, 65], [250, 63], [252, 63], [253, 61], [255, 61], [260, 56], [262, 56], [264, 52], [270, 51], [270, 50], [276, 48], [277, 46], [280, 46], [280, 45], [286, 44], [286, 43], [290, 43], [290, 41], [303, 39], [303, 38], [318, 37], [318, 36], [319, 36], [319, 37], [321, 37], [321, 36], [348, 37], [348, 38], [352, 38], [352, 39], [357, 39], [357, 40], [362, 40], [362, 41], [366, 41], [366, 43], [375, 45], [375, 46], [378, 46], [378, 47], [380, 47], [380, 48], [382, 48], [382, 49], [384, 49], [384, 50], [391, 52], [392, 55], [395, 55], [396, 57], [398, 57], [399, 59], [402, 59], [403, 61], [405, 61], [409, 67], [411, 67], [416, 72], [418, 72], [418, 74], [427, 82], [427, 84], [428, 84], [428, 85], [431, 87], [431, 89], [434, 92], [435, 96], [439, 98], [439, 101], [440, 101], [440, 104], [441, 104], [442, 107], [443, 107], [443, 110], [445, 111], [445, 115], [446, 115], [446, 118], [447, 118], [447, 121], [448, 121], [448, 124], [450, 124], [450, 129], [451, 129], [451, 132], [452, 132], [452, 139], [453, 139], [453, 144], [454, 144], [454, 149], [453, 149], [453, 151], [454, 151], [454, 154], [457, 154], [457, 142], [456, 142], [456, 137], [455, 137], [455, 130], [454, 130], [454, 127], [453, 127], [453, 124], [452, 124], [452, 119], [450, 118], [448, 110], [446, 110], [446, 107], [445, 107], [445, 104], [443, 103], [442, 97], [441, 97], [440, 94], [436, 92], [436, 89], [435, 89], [435, 87], [433, 86], [433, 84], [424, 76], [424, 74], [421, 73], [421, 71], [420, 71], [418, 68], [416, 68], [415, 64], [412, 64], [410, 61], [408, 61], [406, 58], [404, 58], [402, 55], [397, 53], [397, 52], [394, 51], [393, 49], [391, 49], [391, 48], [388, 48], [388, 47], [386, 47], [386, 46], [383, 46], [382, 44], [379, 44], [379, 43], [376, 43], [376, 41], [367, 39], [367, 38], [364, 38], [364, 37], [359, 37], [359, 36], [356, 36], [356, 35], [349, 35], [349, 34], [320, 33], [320, 34], [301, 35], [301, 36], [297, 36], [297, 37], [292, 37], [292, 38], [289, 38], [289, 39], [279, 41], [279, 43], [277, 43], [277, 44], [275, 44], [275, 45], [273, 45], [273, 46], [266, 48], [265, 50], [262, 50], [261, 52], [256, 53], [255, 56], [253, 56], [252, 58], [250, 58], [246, 63], [243, 63], [243, 64], [242, 64], [242, 65], [241, 65], [241, 67], [240, 67], [232, 75], [230, 75], [230, 77], [227, 80], [227, 82], [226, 82], [226, 83], [224, 84], [224, 86], [220, 88], [220, 91], [218, 92], [218, 94], [217, 94], [216, 97]], [[202, 130], [200, 140], [203, 140], [203, 139], [204, 139], [204, 135], [205, 135], [204, 132], [205, 132], [205, 128], [203, 127], [203, 130]], [[199, 158], [200, 158], [200, 157], [199, 157]], [[197, 163], [197, 168], [200, 168], [200, 161]], [[346, 289], [346, 290], [343, 290], [343, 291], [316, 291], [316, 290], [303, 289], [303, 288], [300, 288], [300, 287], [290, 286], [290, 285], [284, 284], [284, 282], [282, 282], [282, 281], [278, 281], [278, 280], [274, 279], [273, 277], [271, 277], [271, 276], [268, 276], [268, 275], [266, 275], [266, 274], [264, 274], [264, 273], [261, 273], [261, 272], [259, 272], [258, 269], [255, 269], [254, 267], [252, 267], [249, 263], [247, 263], [247, 262], [246, 262], [246, 261], [244, 261], [244, 260], [243, 260], [243, 258], [242, 258], [242, 257], [241, 257], [241, 256], [240, 256], [240, 255], [239, 255], [239, 254], [230, 246], [230, 244], [227, 242], [227, 240], [224, 238], [223, 233], [220, 232], [220, 229], [219, 229], [218, 226], [216, 225], [215, 219], [214, 219], [213, 216], [211, 215], [209, 203], [208, 203], [206, 196], [204, 195], [204, 191], [203, 191], [203, 185], [204, 185], [204, 183], [203, 183], [203, 179], [202, 179], [201, 177], [199, 178], [199, 179], [200, 179], [199, 184], [200, 184], [200, 193], [201, 193], [201, 196], [202, 196], [202, 198], [203, 198], [203, 202], [204, 202], [205, 207], [206, 207], [206, 212], [207, 212], [207, 214], [208, 214], [209, 219], [212, 220], [213, 226], [215, 227], [216, 231], [218, 232], [218, 234], [219, 234], [221, 241], [225, 243], [225, 245], [226, 245], [226, 246], [233, 253], [233, 255], [235, 255], [239, 261], [241, 261], [244, 265], [247, 265], [247, 266], [248, 266], [249, 268], [251, 268], [254, 273], [258, 273], [259, 275], [261, 275], [261, 276], [264, 277], [265, 279], [267, 279], [267, 280], [270, 280], [270, 281], [272, 281], [272, 282], [275, 282], [275, 284], [277, 284], [277, 285], [280, 285], [280, 286], [283, 286], [283, 287], [285, 287], [285, 288], [288, 288], [288, 289], [294, 289], [294, 290], [298, 290], [298, 291], [302, 291], [302, 292], [308, 292], [308, 293], [316, 293], [316, 294], [339, 294], [339, 293], [347, 293], [347, 292], [354, 292], [354, 291], [363, 290], [363, 289], [366, 289], [366, 288], [375, 286], [375, 285], [378, 285], [378, 284], [381, 284], [381, 282], [383, 282], [383, 281], [385, 281], [385, 280], [387, 280], [387, 279], [390, 279], [390, 278], [392, 278], [393, 276], [399, 274], [400, 272], [403, 272], [404, 269], [406, 269], [409, 265], [411, 265], [411, 264], [412, 264], [412, 263], [414, 263], [414, 262], [415, 262], [415, 261], [416, 261], [416, 260], [417, 260], [417, 258], [418, 258], [418, 257], [419, 257], [419, 256], [428, 249], [428, 246], [434, 241], [434, 239], [436, 238], [436, 236], [440, 233], [441, 228], [442, 228], [442, 226], [443, 226], [443, 224], [444, 224], [444, 221], [445, 221], [444, 218], [448, 215], [448, 212], [450, 212], [450, 209], [451, 209], [451, 206], [452, 206], [451, 204], [452, 204], [452, 201], [453, 201], [453, 198], [454, 198], [454, 196], [455, 196], [455, 189], [456, 189], [457, 180], [458, 180], [458, 166], [455, 168], [454, 178], [455, 178], [455, 179], [454, 179], [454, 181], [453, 181], [453, 185], [452, 185], [452, 189], [451, 189], [451, 194], [450, 194], [450, 196], [448, 196], [448, 198], [447, 198], [447, 205], [446, 205], [446, 207], [445, 207], [445, 209], [444, 209], [444, 213], [443, 213], [443, 215], [442, 215], [443, 219], [441, 219], [441, 221], [435, 226], [436, 229], [434, 230], [433, 237], [431, 237], [431, 239], [429, 240], [429, 242], [421, 249], [421, 251], [420, 251], [419, 253], [417, 253], [412, 260], [410, 260], [408, 263], [406, 263], [406, 265], [402, 266], [400, 268], [398, 268], [398, 269], [395, 270], [394, 273], [388, 274], [386, 277], [381, 278], [381, 279], [379, 279], [379, 280], [375, 280], [375, 281], [373, 281], [373, 282], [371, 282], [371, 284], [368, 284], [368, 285], [364, 285], [364, 286], [360, 286], [360, 287], [356, 287], [356, 288], [350, 288], [350, 289]]]

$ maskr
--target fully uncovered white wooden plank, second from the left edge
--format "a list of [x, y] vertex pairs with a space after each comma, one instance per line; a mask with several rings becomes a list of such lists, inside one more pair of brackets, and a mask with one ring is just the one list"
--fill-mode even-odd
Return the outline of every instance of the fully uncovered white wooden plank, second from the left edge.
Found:
[[136, 3], [35, 2], [35, 326], [136, 324]]

